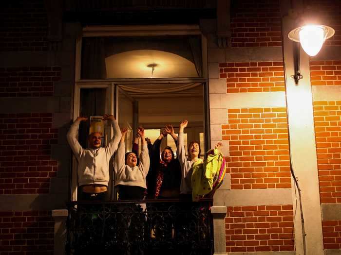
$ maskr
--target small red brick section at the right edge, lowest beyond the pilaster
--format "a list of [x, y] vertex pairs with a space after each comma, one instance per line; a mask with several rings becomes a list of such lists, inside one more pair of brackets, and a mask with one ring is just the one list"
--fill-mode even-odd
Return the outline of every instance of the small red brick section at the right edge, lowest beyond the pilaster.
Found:
[[324, 249], [341, 249], [341, 221], [322, 221]]

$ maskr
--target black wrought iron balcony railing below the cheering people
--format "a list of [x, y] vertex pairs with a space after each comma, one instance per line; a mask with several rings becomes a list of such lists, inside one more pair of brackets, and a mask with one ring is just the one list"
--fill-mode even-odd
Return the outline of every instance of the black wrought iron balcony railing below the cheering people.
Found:
[[66, 253], [211, 255], [211, 204], [211, 199], [72, 202]]

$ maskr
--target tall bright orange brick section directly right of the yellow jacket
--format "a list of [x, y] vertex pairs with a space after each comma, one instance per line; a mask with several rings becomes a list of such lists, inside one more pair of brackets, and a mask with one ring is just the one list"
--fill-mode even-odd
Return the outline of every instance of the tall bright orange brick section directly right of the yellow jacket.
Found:
[[222, 125], [228, 140], [227, 170], [231, 189], [290, 188], [286, 110], [228, 109]]

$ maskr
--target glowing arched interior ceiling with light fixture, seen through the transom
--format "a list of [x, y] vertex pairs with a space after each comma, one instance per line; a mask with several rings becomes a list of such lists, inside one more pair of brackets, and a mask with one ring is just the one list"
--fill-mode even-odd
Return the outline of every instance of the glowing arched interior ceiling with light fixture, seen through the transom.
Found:
[[198, 77], [188, 59], [167, 51], [126, 51], [106, 57], [107, 78]]

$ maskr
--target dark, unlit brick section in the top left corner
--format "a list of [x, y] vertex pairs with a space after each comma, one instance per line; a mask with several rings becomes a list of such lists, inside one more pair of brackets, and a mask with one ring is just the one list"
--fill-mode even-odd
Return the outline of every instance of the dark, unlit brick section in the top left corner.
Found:
[[3, 1], [0, 17], [0, 51], [47, 51], [42, 0]]

